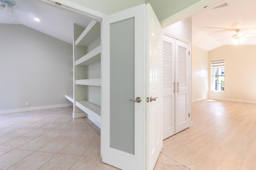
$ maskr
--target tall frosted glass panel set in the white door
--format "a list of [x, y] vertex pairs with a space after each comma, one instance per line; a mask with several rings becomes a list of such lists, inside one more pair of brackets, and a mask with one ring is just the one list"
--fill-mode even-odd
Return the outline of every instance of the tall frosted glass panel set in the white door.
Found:
[[134, 18], [110, 24], [110, 147], [134, 154]]

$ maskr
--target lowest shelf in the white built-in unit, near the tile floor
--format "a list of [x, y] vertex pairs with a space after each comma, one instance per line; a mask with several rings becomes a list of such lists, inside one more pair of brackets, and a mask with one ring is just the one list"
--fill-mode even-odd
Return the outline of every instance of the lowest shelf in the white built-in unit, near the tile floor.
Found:
[[101, 116], [100, 116], [100, 106], [89, 102], [87, 100], [76, 101], [76, 106], [79, 107], [82, 111], [87, 113], [90, 117], [92, 117], [96, 122], [94, 122], [98, 127], [101, 124]]

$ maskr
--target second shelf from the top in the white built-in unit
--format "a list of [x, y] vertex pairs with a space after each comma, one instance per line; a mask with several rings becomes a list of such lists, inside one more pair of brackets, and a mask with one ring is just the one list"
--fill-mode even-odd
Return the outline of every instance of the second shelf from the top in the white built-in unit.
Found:
[[101, 45], [76, 61], [76, 66], [87, 66], [100, 61]]

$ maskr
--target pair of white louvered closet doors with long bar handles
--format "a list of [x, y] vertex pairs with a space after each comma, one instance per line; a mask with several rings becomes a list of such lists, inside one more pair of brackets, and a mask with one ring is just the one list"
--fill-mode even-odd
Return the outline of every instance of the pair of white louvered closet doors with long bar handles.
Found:
[[189, 44], [163, 38], [163, 139], [189, 127]]

